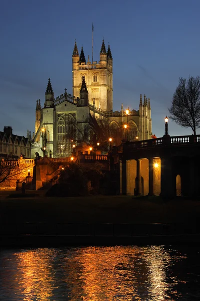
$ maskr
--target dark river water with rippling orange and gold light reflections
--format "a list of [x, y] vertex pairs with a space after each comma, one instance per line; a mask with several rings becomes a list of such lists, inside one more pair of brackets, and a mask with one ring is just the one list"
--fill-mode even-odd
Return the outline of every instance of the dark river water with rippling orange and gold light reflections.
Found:
[[0, 301], [200, 300], [200, 255], [185, 246], [0, 250]]

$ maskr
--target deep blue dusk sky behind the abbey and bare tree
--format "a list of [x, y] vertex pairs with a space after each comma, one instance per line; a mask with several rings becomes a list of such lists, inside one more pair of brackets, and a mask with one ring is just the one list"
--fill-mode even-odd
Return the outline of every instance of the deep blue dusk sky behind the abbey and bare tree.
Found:
[[[54, 96], [72, 93], [71, 55], [76, 39], [94, 60], [104, 38], [113, 57], [113, 110], [138, 109], [150, 97], [152, 130], [164, 134], [179, 77], [200, 75], [200, 1], [1, 0], [0, 130], [34, 131], [35, 104], [43, 105], [48, 78]], [[200, 132], [200, 130], [198, 131]], [[170, 135], [191, 134], [169, 121]]]

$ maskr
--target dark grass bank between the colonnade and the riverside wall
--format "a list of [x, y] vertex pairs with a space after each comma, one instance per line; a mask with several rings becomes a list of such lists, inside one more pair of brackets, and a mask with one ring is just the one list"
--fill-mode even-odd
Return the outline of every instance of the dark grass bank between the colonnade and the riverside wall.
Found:
[[0, 192], [0, 222], [3, 223], [181, 223], [195, 222], [199, 217], [200, 201], [183, 198], [49, 198], [44, 192], [31, 191], [23, 197], [19, 192]]

